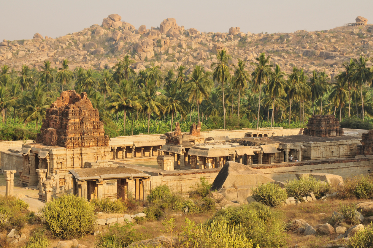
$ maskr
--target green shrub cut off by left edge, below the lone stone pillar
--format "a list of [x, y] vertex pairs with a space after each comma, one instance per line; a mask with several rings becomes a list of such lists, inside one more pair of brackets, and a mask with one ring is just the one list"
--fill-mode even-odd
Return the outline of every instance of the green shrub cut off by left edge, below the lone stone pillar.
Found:
[[0, 195], [0, 231], [20, 230], [28, 220], [28, 204], [14, 196]]

